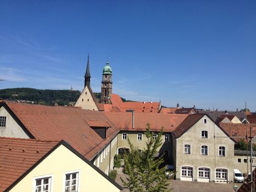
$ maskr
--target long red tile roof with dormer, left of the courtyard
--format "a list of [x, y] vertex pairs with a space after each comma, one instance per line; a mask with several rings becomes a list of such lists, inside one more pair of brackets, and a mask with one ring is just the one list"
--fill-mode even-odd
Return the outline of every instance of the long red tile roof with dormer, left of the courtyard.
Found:
[[115, 126], [112, 126], [107, 129], [107, 138], [102, 139], [91, 129], [87, 121], [109, 121], [102, 112], [75, 107], [51, 107], [13, 102], [6, 102], [6, 104], [35, 138], [68, 141], [76, 151], [89, 160], [119, 132]]

